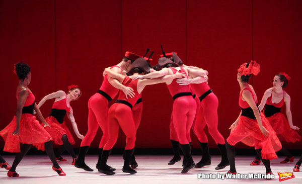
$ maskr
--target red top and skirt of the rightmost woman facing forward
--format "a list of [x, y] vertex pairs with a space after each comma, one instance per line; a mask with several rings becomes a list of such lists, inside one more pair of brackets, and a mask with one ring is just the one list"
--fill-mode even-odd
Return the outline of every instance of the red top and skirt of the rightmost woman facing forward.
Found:
[[[267, 110], [268, 105], [281, 109], [281, 107], [284, 104], [284, 95], [285, 95], [285, 91], [283, 91], [283, 99], [279, 103], [273, 104], [272, 103], [273, 91], [272, 91], [271, 96], [266, 101], [265, 115], [270, 114], [269, 110]], [[266, 119], [268, 120], [274, 131], [276, 132], [279, 139], [285, 140], [287, 142], [293, 142], [293, 143], [301, 140], [301, 136], [294, 129], [290, 128], [287, 119], [282, 113], [277, 112], [272, 116], [266, 117]]]

